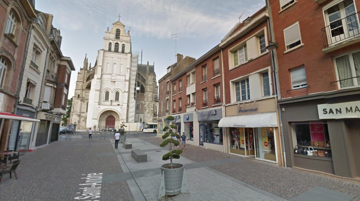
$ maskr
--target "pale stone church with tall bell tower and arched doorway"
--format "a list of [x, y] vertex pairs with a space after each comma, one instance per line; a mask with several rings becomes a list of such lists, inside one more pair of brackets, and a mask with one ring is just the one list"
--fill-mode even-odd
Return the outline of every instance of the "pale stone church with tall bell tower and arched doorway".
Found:
[[[135, 84], [139, 83], [138, 75], [142, 74], [143, 69], [144, 76], [148, 79], [144, 83], [145, 93], [141, 93], [141, 89], [136, 90]], [[152, 73], [147, 69], [152, 69]], [[154, 122], [154, 111], [157, 111], [157, 104], [153, 104], [155, 96], [157, 97], [157, 83], [154, 67], [145, 65], [143, 68], [143, 65], [138, 64], [138, 55], [131, 53], [130, 31], [126, 32], [125, 26], [117, 21], [110, 31], [109, 28], [105, 31], [103, 49], [98, 50], [93, 67], [91, 63], [88, 64], [85, 56], [84, 65], [77, 76], [70, 122], [76, 123], [80, 130], [90, 127], [118, 129], [122, 122], [140, 122], [139, 118], [136, 119], [136, 112], [140, 111], [135, 107], [141, 99], [148, 100], [152, 105], [150, 107], [149, 103], [143, 102], [147, 105], [143, 113], [152, 115], [144, 115], [147, 118], [141, 120], [146, 123]]]

